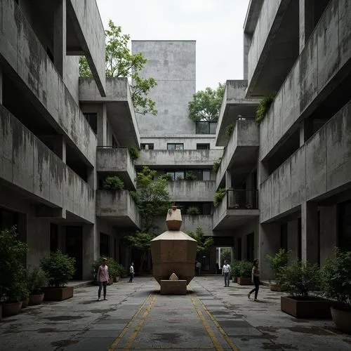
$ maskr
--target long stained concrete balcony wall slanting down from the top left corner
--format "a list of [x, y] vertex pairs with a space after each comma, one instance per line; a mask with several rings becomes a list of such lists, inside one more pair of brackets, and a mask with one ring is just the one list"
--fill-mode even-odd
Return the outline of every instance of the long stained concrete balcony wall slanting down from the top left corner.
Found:
[[4, 71], [67, 143], [95, 166], [96, 136], [15, 1], [0, 1], [0, 59]]

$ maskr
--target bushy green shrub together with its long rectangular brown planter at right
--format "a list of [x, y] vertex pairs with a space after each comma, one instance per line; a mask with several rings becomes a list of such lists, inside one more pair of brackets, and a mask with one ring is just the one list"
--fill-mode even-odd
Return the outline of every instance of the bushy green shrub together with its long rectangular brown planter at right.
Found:
[[318, 265], [295, 261], [279, 270], [278, 282], [289, 296], [281, 297], [281, 310], [296, 318], [331, 318], [331, 303], [312, 291], [319, 290]]

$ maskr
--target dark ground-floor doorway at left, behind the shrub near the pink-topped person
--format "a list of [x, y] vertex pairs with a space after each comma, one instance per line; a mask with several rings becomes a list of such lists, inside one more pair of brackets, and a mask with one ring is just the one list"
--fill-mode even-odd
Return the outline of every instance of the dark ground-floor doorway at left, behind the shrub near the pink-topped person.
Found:
[[73, 279], [83, 277], [83, 227], [72, 225], [66, 227], [66, 254], [76, 259], [76, 272]]

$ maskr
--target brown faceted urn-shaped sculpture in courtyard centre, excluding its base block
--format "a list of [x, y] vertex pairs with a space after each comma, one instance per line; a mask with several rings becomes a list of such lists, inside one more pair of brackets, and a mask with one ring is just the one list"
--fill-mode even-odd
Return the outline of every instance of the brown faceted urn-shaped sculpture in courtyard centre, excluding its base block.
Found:
[[168, 210], [168, 230], [151, 241], [152, 275], [161, 284], [172, 273], [190, 283], [195, 275], [197, 241], [180, 232], [182, 215], [176, 206]]

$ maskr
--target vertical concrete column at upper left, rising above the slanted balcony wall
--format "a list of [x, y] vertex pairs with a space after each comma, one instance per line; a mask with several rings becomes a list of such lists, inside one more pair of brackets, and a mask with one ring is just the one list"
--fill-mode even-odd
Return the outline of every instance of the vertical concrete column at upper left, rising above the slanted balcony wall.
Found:
[[64, 76], [66, 58], [66, 0], [55, 0], [53, 14], [53, 63]]

